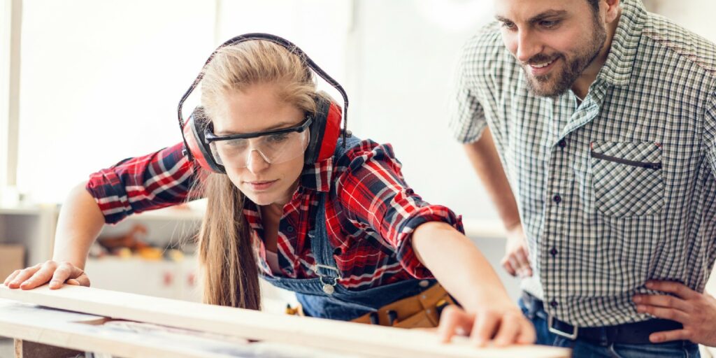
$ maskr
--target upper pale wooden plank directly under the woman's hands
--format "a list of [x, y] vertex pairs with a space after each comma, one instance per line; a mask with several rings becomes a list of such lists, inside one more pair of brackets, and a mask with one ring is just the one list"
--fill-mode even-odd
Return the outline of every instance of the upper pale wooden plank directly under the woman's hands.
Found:
[[0, 298], [116, 319], [161, 324], [246, 339], [305, 345], [378, 357], [569, 357], [569, 349], [538, 346], [476, 349], [466, 339], [441, 344], [429, 332], [159, 299], [116, 291], [47, 286], [30, 291], [0, 285]]

